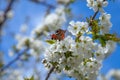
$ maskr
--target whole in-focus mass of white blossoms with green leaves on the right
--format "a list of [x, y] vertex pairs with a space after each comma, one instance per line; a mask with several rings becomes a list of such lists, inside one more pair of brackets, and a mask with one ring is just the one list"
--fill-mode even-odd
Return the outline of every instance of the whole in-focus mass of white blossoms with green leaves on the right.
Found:
[[[102, 11], [106, 0], [87, 0], [94, 11]], [[45, 67], [64, 72], [77, 80], [96, 80], [102, 61], [115, 49], [113, 35], [108, 34], [112, 24], [110, 14], [102, 13], [99, 20], [71, 21], [67, 30], [72, 36], [55, 41], [45, 52]], [[110, 38], [112, 37], [112, 38]]]

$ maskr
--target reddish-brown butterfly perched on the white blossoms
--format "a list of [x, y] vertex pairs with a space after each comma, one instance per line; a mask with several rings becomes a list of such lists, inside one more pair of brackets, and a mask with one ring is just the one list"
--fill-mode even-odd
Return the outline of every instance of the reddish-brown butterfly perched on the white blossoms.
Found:
[[61, 41], [65, 38], [65, 32], [66, 30], [58, 29], [56, 30], [55, 34], [51, 35], [51, 39]]

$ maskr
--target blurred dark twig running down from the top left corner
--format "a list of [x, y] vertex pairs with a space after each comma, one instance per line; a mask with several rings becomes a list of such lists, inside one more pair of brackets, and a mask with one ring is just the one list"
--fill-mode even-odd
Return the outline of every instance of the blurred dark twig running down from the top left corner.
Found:
[[3, 19], [2, 22], [0, 22], [0, 32], [1, 32], [1, 30], [2, 30], [3, 24], [4, 24], [5, 21], [7, 20], [7, 13], [11, 10], [14, 1], [15, 1], [15, 0], [10, 0], [7, 8], [6, 8], [5, 11], [4, 11], [4, 14], [3, 14], [4, 19]]

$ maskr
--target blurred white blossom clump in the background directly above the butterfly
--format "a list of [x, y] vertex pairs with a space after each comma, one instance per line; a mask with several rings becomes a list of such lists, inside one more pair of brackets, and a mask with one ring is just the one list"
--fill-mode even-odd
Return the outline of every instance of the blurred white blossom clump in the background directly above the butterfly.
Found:
[[[60, 9], [61, 11], [58, 11]], [[50, 31], [59, 29], [63, 23], [66, 21], [64, 9], [58, 7], [55, 13], [51, 13], [46, 16], [44, 20], [44, 25], [48, 27]]]

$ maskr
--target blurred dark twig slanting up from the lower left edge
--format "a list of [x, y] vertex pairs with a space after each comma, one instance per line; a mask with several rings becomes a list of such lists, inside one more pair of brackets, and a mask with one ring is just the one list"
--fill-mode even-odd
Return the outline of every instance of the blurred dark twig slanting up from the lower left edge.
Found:
[[20, 59], [20, 57], [25, 54], [25, 52], [28, 51], [28, 48], [25, 49], [23, 52], [19, 53], [17, 55], [16, 58], [14, 58], [12, 61], [10, 61], [8, 64], [6, 64], [5, 66], [3, 66], [1, 69], [0, 69], [0, 73], [3, 72], [5, 69], [9, 68], [13, 63], [15, 63], [16, 61], [18, 61]]

